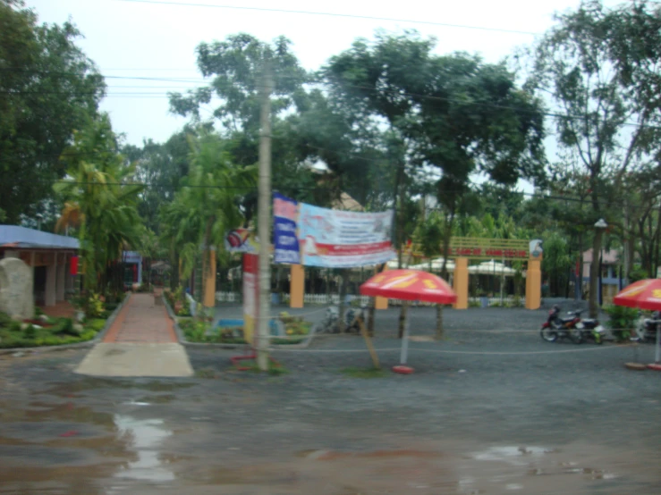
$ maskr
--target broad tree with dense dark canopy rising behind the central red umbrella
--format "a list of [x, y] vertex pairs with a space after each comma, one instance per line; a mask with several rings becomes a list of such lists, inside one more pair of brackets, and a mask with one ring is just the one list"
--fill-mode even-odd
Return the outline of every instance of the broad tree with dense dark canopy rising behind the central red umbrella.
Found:
[[[520, 177], [540, 178], [544, 131], [538, 99], [516, 88], [504, 64], [465, 54], [432, 55], [435, 45], [414, 31], [378, 33], [373, 45], [358, 40], [333, 57], [324, 75], [357, 107], [385, 119], [400, 143], [401, 153], [391, 161], [397, 171], [395, 197], [403, 198], [411, 165], [437, 169], [447, 258], [453, 221], [470, 193], [472, 175], [486, 173], [505, 185]], [[397, 236], [398, 247], [401, 241]]]

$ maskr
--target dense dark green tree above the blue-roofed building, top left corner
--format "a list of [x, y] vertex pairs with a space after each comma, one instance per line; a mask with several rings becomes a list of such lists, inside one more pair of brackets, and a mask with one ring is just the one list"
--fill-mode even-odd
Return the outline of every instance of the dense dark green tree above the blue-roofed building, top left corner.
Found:
[[0, 0], [0, 208], [10, 223], [52, 197], [66, 171], [59, 157], [106, 89], [71, 22], [38, 25], [22, 7]]

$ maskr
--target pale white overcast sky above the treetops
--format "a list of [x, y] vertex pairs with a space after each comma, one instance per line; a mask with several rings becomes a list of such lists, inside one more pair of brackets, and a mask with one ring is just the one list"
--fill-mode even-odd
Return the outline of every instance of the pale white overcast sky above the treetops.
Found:
[[[201, 84], [195, 47], [202, 41], [223, 39], [237, 32], [247, 32], [262, 40], [284, 35], [292, 39], [303, 67], [314, 70], [328, 57], [351, 46], [355, 38], [372, 38], [376, 29], [418, 29], [424, 36], [438, 39], [438, 53], [462, 50], [479, 53], [488, 62], [497, 62], [512, 54], [517, 46], [534, 41], [534, 35], [525, 33], [544, 32], [552, 25], [555, 12], [564, 12], [579, 4], [579, 0], [178, 0], [177, 5], [165, 4], [169, 1], [26, 0], [26, 4], [36, 10], [40, 21], [62, 23], [71, 18], [78, 26], [85, 36], [79, 45], [109, 78], [106, 80], [108, 96], [102, 109], [110, 113], [114, 130], [136, 145], [140, 145], [143, 138], [164, 141], [182, 127], [185, 120], [168, 112], [166, 93]], [[202, 4], [376, 16], [401, 21], [196, 6]], [[184, 82], [112, 79], [111, 76]]]

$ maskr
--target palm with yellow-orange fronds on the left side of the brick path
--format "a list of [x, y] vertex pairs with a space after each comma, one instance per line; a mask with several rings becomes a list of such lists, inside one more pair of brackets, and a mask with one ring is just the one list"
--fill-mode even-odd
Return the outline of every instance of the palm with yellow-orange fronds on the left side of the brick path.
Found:
[[117, 147], [108, 116], [89, 118], [62, 155], [67, 179], [54, 186], [65, 201], [57, 229], [77, 229], [85, 287], [90, 291], [106, 289], [107, 269], [121, 259], [124, 248], [140, 248], [143, 224], [137, 203], [141, 188], [131, 184], [134, 169], [125, 166]]

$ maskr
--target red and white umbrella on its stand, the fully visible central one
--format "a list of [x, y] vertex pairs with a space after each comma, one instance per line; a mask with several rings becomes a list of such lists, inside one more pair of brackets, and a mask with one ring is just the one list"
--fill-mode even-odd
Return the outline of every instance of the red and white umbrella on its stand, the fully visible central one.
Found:
[[[391, 270], [378, 273], [360, 286], [360, 294], [370, 297], [423, 301], [437, 304], [452, 304], [457, 295], [446, 281], [433, 273], [418, 270]], [[409, 320], [404, 325], [402, 339], [401, 366], [396, 371], [408, 371], [406, 355], [409, 349]]]

